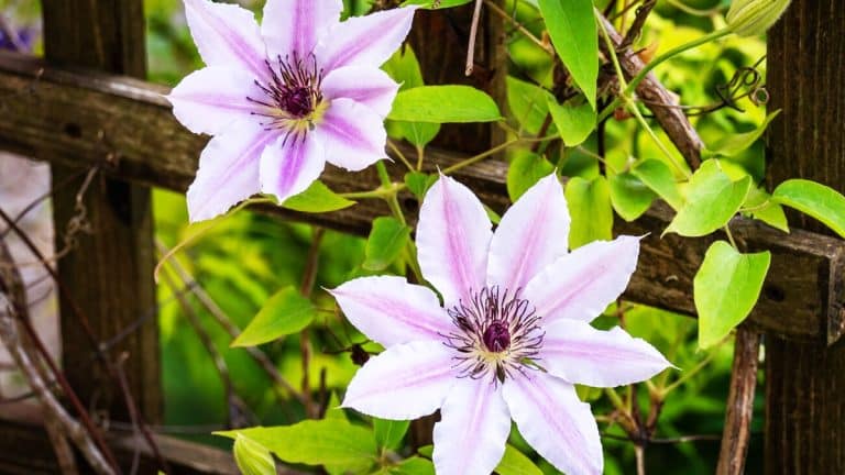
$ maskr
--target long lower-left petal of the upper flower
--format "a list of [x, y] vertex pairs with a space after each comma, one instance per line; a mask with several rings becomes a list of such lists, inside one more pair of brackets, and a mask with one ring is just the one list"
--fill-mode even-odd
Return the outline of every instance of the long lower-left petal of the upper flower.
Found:
[[237, 122], [206, 145], [188, 188], [190, 222], [222, 214], [259, 192], [259, 157], [275, 136], [255, 121]]

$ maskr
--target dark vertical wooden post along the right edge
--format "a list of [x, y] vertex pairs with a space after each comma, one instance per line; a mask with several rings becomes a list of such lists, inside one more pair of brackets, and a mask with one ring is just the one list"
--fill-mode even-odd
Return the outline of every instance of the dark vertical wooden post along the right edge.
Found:
[[[768, 134], [770, 185], [802, 177], [845, 191], [843, 31], [841, 1], [795, 0], [769, 32], [769, 109], [783, 111]], [[830, 233], [811, 219], [790, 218]], [[766, 336], [768, 475], [845, 473], [845, 342], [826, 343]]]

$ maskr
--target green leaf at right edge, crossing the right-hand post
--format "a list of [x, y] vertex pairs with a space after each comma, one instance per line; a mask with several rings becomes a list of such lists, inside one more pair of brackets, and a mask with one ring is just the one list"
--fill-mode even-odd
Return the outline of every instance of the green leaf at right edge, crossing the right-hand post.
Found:
[[791, 179], [771, 194], [775, 201], [813, 217], [845, 239], [845, 197], [815, 181]]

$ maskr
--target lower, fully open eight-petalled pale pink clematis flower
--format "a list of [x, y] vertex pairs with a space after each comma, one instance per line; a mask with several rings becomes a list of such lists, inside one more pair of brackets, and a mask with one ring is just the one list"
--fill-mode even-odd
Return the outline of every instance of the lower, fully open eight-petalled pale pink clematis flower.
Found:
[[352, 324], [386, 347], [354, 376], [343, 406], [400, 420], [440, 409], [434, 462], [441, 475], [491, 473], [512, 418], [557, 468], [601, 474], [599, 429], [573, 385], [630, 384], [669, 363], [619, 328], [590, 325], [627, 286], [639, 239], [570, 253], [569, 222], [553, 174], [495, 233], [472, 191], [441, 176], [420, 209], [417, 246], [442, 306], [402, 277], [358, 278], [331, 291]]

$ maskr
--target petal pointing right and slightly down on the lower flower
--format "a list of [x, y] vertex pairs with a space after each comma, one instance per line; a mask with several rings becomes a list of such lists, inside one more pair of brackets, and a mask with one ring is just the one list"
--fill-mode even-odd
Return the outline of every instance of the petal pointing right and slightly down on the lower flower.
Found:
[[541, 365], [569, 383], [622, 386], [671, 366], [657, 349], [618, 327], [602, 331], [583, 321], [561, 319], [545, 330]]

